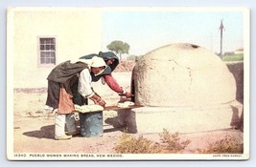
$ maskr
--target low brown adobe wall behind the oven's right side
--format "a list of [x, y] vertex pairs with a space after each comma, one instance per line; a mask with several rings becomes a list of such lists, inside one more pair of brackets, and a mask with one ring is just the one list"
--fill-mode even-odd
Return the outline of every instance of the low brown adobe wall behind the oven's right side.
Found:
[[236, 79], [237, 100], [244, 104], [244, 62], [227, 62], [226, 66]]

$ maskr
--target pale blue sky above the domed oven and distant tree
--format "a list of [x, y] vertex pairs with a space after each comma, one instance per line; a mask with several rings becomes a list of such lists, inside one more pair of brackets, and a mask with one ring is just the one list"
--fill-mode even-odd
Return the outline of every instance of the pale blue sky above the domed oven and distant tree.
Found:
[[220, 52], [223, 19], [223, 52], [244, 47], [243, 12], [238, 11], [105, 11], [104, 49], [113, 40], [130, 45], [129, 54], [141, 55], [158, 47], [193, 43]]

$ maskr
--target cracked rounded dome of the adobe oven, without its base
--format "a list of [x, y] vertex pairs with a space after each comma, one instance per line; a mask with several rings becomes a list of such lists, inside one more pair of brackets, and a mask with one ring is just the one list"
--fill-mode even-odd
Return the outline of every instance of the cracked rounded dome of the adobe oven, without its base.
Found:
[[214, 53], [191, 44], [145, 54], [132, 73], [135, 102], [146, 106], [224, 104], [236, 99], [232, 73]]

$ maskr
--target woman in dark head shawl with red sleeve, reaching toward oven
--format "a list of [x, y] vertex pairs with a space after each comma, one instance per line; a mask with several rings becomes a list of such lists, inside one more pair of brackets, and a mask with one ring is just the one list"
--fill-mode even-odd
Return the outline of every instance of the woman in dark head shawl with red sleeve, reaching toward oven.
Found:
[[113, 52], [99, 52], [99, 54], [89, 54], [81, 56], [80, 59], [91, 59], [94, 56], [102, 57], [105, 60], [105, 64], [107, 65], [107, 67], [105, 68], [105, 71], [101, 74], [95, 75], [94, 73], [91, 73], [92, 81], [96, 82], [100, 78], [102, 78], [103, 83], [106, 83], [111, 90], [118, 94], [125, 95], [127, 98], [129, 98], [131, 94], [125, 91], [111, 74], [118, 66], [119, 58]]

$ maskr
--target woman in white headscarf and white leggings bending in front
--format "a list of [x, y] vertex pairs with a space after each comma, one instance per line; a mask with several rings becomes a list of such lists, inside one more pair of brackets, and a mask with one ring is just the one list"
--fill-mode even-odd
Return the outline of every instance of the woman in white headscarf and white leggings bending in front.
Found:
[[[79, 60], [75, 62], [65, 61], [59, 64], [48, 75], [48, 95], [46, 105], [52, 107], [54, 110], [58, 109], [56, 113], [55, 124], [55, 139], [69, 139], [72, 134], [77, 132], [76, 126], [67, 126], [68, 134], [65, 134], [66, 119], [71, 119], [71, 113], [75, 110], [73, 100], [72, 87], [76, 85], [77, 91], [82, 98], [89, 98], [95, 104], [105, 106], [105, 101], [100, 95], [96, 94], [91, 88], [91, 73], [98, 75], [105, 70], [105, 61], [101, 57], [93, 57], [89, 60]], [[69, 122], [75, 123], [75, 118]]]

